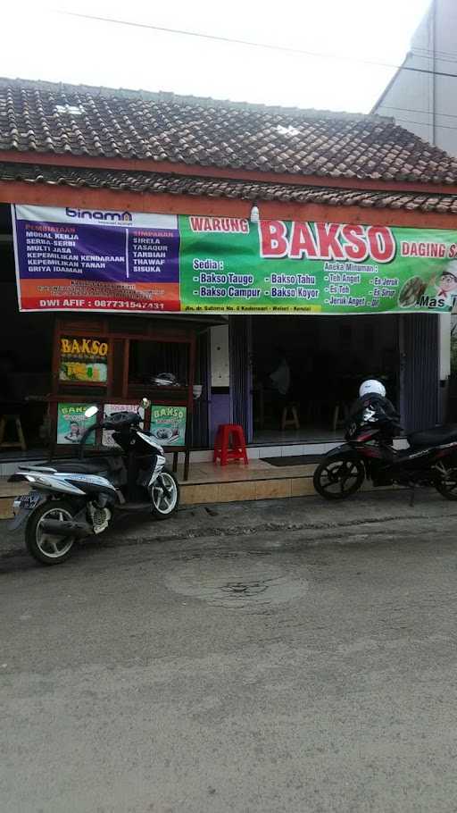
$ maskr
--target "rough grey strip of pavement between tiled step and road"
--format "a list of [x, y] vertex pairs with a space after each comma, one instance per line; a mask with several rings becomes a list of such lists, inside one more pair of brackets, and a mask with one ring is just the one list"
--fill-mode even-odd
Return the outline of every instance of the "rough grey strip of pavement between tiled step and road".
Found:
[[[212, 506], [185, 506], [168, 521], [155, 522], [147, 515], [123, 516], [112, 531], [98, 540], [83, 544], [125, 546], [158, 544], [206, 537], [249, 537], [256, 533], [303, 531], [303, 542], [317, 544], [351, 535], [363, 528], [371, 535], [382, 533], [387, 525], [398, 532], [453, 529], [457, 501], [447, 501], [435, 491], [418, 490], [414, 505], [407, 490], [364, 492], [345, 502], [328, 502], [318, 496], [266, 499], [253, 502], [221, 503]], [[368, 529], [368, 530], [367, 530]], [[0, 559], [25, 551], [23, 531], [10, 532], [8, 522], [0, 522]]]

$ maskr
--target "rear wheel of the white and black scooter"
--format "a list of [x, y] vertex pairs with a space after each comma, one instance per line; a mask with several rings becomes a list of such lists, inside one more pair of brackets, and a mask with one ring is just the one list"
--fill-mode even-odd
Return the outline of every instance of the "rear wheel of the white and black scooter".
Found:
[[41, 527], [43, 520], [45, 518], [71, 520], [74, 515], [75, 511], [68, 502], [63, 499], [52, 499], [38, 506], [29, 516], [25, 529], [25, 543], [30, 556], [40, 565], [60, 565], [71, 555], [75, 541], [73, 536], [46, 533]]

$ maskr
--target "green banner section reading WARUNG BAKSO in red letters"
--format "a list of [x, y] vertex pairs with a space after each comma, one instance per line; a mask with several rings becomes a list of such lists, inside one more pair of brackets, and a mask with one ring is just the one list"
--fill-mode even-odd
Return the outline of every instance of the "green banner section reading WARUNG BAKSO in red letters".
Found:
[[212, 313], [446, 312], [457, 230], [179, 217], [180, 309]]

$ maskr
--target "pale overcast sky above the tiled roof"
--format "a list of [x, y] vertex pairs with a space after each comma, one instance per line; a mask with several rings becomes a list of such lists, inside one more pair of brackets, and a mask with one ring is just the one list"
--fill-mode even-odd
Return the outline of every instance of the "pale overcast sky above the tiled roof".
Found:
[[[16, 0], [2, 8], [0, 75], [370, 111], [429, 0]], [[286, 53], [84, 20], [109, 17], [298, 49]]]

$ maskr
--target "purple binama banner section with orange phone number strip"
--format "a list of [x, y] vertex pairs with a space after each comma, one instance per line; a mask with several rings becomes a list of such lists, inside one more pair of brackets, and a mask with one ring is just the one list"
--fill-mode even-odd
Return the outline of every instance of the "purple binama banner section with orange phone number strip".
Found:
[[12, 206], [21, 310], [177, 311], [175, 215]]

